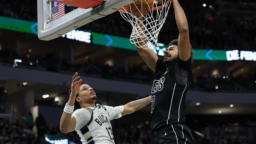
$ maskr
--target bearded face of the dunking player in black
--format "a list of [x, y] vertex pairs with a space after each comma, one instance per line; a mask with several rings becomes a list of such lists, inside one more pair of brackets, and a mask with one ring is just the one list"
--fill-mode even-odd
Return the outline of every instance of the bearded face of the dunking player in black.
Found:
[[178, 46], [171, 45], [164, 52], [163, 64], [165, 64], [166, 66], [170, 66], [175, 62], [177, 57], [178, 57]]

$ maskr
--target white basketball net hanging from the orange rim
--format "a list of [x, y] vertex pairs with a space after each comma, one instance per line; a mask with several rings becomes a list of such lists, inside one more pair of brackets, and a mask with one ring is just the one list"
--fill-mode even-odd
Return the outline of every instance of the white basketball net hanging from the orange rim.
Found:
[[[162, 2], [162, 4], [159, 4], [159, 2]], [[169, 8], [169, 0], [154, 0], [153, 8], [151, 9], [151, 11], [143, 16], [142, 10], [139, 10], [141, 16], [138, 17], [128, 12], [127, 8], [121, 8], [119, 10], [121, 16], [124, 18], [124, 20], [130, 22], [130, 24], [132, 25], [130, 42], [132, 44], [136, 44], [138, 48], [146, 49], [151, 46], [158, 47], [158, 34], [166, 20]], [[141, 17], [143, 17], [143, 20], [140, 20]], [[140, 26], [143, 26], [144, 28], [140, 28]], [[147, 43], [143, 42], [143, 39], [145, 38], [148, 41]], [[136, 41], [134, 41], [135, 39]]]

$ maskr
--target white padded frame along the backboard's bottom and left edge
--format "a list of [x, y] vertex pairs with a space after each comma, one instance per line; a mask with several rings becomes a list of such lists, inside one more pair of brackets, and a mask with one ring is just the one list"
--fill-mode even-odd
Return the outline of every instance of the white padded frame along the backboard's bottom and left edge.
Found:
[[38, 38], [40, 40], [58, 38], [76, 28], [112, 14], [122, 8], [122, 6], [126, 6], [134, 1], [104, 0], [98, 6], [87, 9], [77, 8], [52, 21], [52, 2], [49, 0], [37, 0]]

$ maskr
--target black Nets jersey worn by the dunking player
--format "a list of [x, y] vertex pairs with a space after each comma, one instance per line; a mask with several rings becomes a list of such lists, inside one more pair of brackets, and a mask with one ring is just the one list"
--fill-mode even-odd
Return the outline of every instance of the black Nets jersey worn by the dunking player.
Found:
[[162, 60], [157, 60], [156, 77], [151, 90], [152, 130], [177, 122], [185, 122], [185, 99], [191, 74], [191, 57], [184, 62], [178, 56], [168, 70], [162, 64]]

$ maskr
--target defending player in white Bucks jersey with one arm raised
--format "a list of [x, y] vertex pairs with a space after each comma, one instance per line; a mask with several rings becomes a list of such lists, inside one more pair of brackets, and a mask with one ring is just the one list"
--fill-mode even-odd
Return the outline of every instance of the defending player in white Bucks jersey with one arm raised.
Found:
[[[83, 144], [114, 144], [110, 120], [131, 114], [151, 102], [151, 96], [148, 96], [123, 106], [95, 106], [95, 91], [78, 79], [76, 72], [72, 78], [70, 98], [60, 119], [60, 131], [68, 133], [76, 130]], [[75, 111], [74, 106], [78, 108]]]

